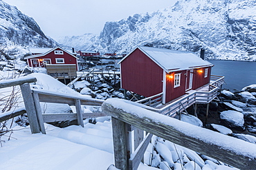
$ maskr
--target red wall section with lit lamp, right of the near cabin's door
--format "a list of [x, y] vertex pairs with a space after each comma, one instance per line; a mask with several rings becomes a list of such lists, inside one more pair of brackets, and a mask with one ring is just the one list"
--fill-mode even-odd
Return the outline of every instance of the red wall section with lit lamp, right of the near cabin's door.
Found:
[[[208, 68], [208, 76], [205, 76], [205, 69]], [[200, 72], [201, 70], [201, 72]], [[192, 89], [197, 89], [203, 85], [206, 85], [210, 83], [210, 72], [211, 72], [211, 67], [205, 67], [201, 69], [194, 69], [194, 75], [193, 75], [193, 87]]]

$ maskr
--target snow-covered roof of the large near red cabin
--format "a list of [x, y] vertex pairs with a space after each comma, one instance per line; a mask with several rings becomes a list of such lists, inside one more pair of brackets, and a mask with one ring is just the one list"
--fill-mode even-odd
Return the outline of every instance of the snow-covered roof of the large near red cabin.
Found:
[[[204, 61], [193, 52], [156, 47], [136, 47], [134, 50], [137, 48], [163, 68], [165, 72], [213, 66], [212, 63]], [[134, 50], [132, 52], [134, 52]], [[119, 63], [124, 61], [132, 52], [125, 56], [125, 58], [123, 58]]]

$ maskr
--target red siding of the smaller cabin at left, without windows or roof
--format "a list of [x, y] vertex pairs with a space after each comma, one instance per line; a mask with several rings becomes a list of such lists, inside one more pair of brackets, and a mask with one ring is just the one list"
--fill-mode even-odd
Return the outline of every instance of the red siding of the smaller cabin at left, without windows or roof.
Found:
[[[55, 50], [61, 50], [60, 48], [57, 48]], [[39, 57], [35, 57], [33, 59], [28, 59], [28, 65], [30, 67], [43, 67], [42, 66], [42, 61], [40, 61], [40, 59], [50, 59], [51, 60], [51, 64], [58, 64], [56, 63], [56, 59], [60, 58], [60, 59], [64, 59], [64, 63], [60, 63], [60, 64], [75, 64], [77, 65], [77, 60], [74, 56], [71, 56], [70, 54], [64, 52], [63, 50], [63, 54], [55, 54], [54, 51], [50, 52], [48, 54], [46, 54], [45, 56], [39, 56]], [[33, 63], [33, 60], [37, 60], [37, 65], [31, 65], [31, 63]], [[39, 65], [40, 63], [40, 65]]]

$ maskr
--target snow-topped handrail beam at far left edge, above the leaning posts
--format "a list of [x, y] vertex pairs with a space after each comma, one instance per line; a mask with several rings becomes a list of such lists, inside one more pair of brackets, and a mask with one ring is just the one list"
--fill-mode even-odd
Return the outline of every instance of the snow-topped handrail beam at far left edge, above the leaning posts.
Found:
[[22, 85], [24, 83], [34, 83], [37, 81], [37, 78], [31, 76], [24, 76], [21, 78], [15, 78], [11, 80], [1, 81], [0, 89], [4, 87], [11, 87], [15, 85]]

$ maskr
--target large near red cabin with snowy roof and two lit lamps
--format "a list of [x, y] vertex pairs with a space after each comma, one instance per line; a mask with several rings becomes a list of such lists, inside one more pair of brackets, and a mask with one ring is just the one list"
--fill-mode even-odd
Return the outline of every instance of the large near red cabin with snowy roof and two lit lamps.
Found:
[[163, 103], [210, 83], [213, 66], [192, 52], [136, 47], [120, 62], [121, 87], [145, 97], [163, 92]]

